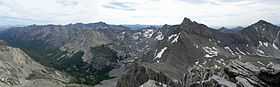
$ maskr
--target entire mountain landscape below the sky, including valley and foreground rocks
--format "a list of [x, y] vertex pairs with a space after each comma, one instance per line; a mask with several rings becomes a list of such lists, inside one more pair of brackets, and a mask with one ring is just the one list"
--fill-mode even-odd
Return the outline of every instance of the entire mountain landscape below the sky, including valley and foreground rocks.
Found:
[[279, 32], [264, 20], [213, 29], [188, 18], [141, 29], [104, 22], [13, 27], [0, 32], [7, 70], [0, 85], [278, 87]]

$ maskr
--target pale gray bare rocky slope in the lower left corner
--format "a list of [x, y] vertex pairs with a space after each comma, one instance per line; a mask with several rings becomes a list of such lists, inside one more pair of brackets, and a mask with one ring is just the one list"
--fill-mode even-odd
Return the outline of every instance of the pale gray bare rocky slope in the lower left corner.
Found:
[[1, 87], [64, 87], [69, 77], [32, 60], [19, 48], [0, 46]]

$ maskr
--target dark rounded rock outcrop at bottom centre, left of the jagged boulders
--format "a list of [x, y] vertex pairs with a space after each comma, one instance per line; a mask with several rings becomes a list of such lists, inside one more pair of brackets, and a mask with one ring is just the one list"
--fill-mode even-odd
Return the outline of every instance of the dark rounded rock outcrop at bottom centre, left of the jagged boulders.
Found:
[[[156, 83], [162, 83], [156, 85]], [[162, 87], [177, 85], [168, 77], [160, 72], [146, 68], [141, 65], [131, 65], [117, 83], [117, 87]]]

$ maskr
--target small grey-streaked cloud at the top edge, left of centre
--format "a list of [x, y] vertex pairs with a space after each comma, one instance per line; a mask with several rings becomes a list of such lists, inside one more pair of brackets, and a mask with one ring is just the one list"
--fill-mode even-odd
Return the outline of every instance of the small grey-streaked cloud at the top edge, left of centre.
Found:
[[124, 11], [135, 11], [136, 9], [132, 6], [135, 3], [130, 2], [110, 2], [106, 5], [103, 5], [104, 8], [116, 9], [116, 10], [124, 10]]

